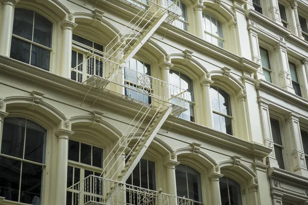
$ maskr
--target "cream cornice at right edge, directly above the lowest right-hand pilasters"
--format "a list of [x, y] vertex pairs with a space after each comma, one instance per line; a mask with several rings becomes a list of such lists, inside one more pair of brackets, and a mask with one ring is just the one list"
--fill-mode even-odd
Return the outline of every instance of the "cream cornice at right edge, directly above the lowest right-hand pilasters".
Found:
[[256, 81], [256, 89], [264, 90], [265, 92], [272, 93], [276, 96], [284, 98], [294, 104], [297, 104], [305, 109], [308, 109], [308, 100], [303, 99], [293, 93], [289, 93], [282, 88], [279, 88], [265, 80], [259, 79]]

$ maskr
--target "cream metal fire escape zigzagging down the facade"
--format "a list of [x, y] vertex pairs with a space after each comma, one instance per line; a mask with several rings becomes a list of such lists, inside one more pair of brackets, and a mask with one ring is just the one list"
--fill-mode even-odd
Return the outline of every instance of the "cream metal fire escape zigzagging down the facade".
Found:
[[[126, 184], [126, 180], [136, 168], [167, 117], [177, 116], [187, 110], [185, 90], [136, 70], [132, 71], [126, 66], [127, 62], [164, 22], [171, 24], [179, 17], [181, 11], [177, 7], [178, 0], [173, 0], [174, 4], [168, 8], [156, 4], [154, 0], [147, 0], [147, 4], [141, 7], [138, 7], [140, 5], [137, 0], [121, 1], [130, 2], [131, 6], [136, 6], [140, 10], [126, 25], [127, 31], [124, 34], [119, 33], [111, 40], [105, 47], [103, 56], [93, 53], [77, 67], [83, 66], [87, 70], [96, 71], [87, 72], [87, 79], [83, 81], [83, 84], [89, 87], [89, 91], [96, 89], [101, 94], [108, 90], [110, 84], [127, 88], [124, 78], [134, 73], [128, 76], [130, 81], [137, 85], [134, 91], [149, 96], [152, 99], [151, 104], [146, 105], [144, 102], [139, 102], [143, 103], [143, 107], [110, 154], [104, 157], [102, 174], [100, 176], [90, 175], [67, 190], [73, 194], [74, 205], [190, 204], [189, 199]], [[119, 52], [120, 48], [126, 51], [124, 56], [122, 52]], [[86, 97], [87, 95], [84, 100]], [[148, 122], [149, 118], [151, 119]], [[141, 135], [140, 130], [143, 130]]]

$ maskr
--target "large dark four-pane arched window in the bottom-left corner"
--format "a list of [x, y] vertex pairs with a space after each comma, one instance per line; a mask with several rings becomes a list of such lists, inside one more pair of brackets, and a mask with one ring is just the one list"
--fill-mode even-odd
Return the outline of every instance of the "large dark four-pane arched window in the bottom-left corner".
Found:
[[0, 196], [42, 204], [46, 130], [18, 117], [4, 119], [0, 154]]

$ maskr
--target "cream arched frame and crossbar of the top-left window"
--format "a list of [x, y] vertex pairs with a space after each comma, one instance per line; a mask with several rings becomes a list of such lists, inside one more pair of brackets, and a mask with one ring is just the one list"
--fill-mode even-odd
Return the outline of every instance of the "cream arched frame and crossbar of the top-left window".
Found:
[[[54, 73], [55, 72], [55, 66], [56, 66], [56, 63], [55, 63], [55, 58], [57, 57], [56, 55], [54, 55], [53, 53], [55, 52], [59, 52], [59, 48], [57, 48], [57, 41], [58, 41], [58, 36], [57, 36], [57, 27], [56, 27], [56, 24], [57, 24], [57, 20], [58, 19], [55, 19], [54, 16], [56, 14], [53, 14], [53, 13], [50, 13], [50, 11], [45, 11], [45, 10], [41, 10], [41, 9], [38, 9], [36, 7], [36, 5], [23, 5], [21, 3], [19, 4], [16, 4], [15, 6], [15, 9], [27, 9], [27, 10], [30, 10], [30, 11], [33, 11], [37, 14], [40, 14], [42, 15], [43, 17], [45, 17], [47, 20], [49, 20], [49, 22], [52, 24], [52, 31], [51, 31], [51, 45], [50, 45], [50, 48], [46, 47], [46, 46], [43, 46], [43, 45], [40, 45], [38, 43], [35, 43], [33, 42], [32, 40], [28, 40], [28, 39], [25, 39], [23, 37], [20, 37], [20, 36], [16, 36], [12, 33], [12, 38], [13, 37], [16, 37], [18, 39], [21, 39], [23, 40], [24, 42], [27, 42], [27, 43], [30, 43], [31, 45], [36, 45], [38, 47], [41, 47], [41, 48], [45, 48], [47, 50], [50, 51], [50, 58], [49, 58], [49, 72], [52, 72]], [[32, 46], [31, 46], [32, 47]], [[31, 65], [31, 56], [30, 56], [30, 60], [29, 60], [29, 65]], [[36, 67], [38, 68], [38, 67]], [[43, 69], [43, 68], [40, 68], [40, 69]], [[43, 69], [44, 70], [44, 69]]]

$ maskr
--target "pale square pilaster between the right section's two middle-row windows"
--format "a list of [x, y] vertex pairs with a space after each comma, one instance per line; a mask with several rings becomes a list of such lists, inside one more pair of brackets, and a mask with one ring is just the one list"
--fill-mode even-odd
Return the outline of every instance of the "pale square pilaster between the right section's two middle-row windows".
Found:
[[290, 68], [288, 66], [288, 60], [287, 60], [287, 53], [286, 53], [286, 46], [282, 43], [278, 43], [276, 46], [274, 46], [274, 50], [276, 52], [276, 65], [278, 69], [278, 75], [279, 75], [279, 83], [280, 87], [284, 90], [295, 93], [293, 86], [292, 86], [292, 80], [291, 80], [291, 74], [290, 74]]

